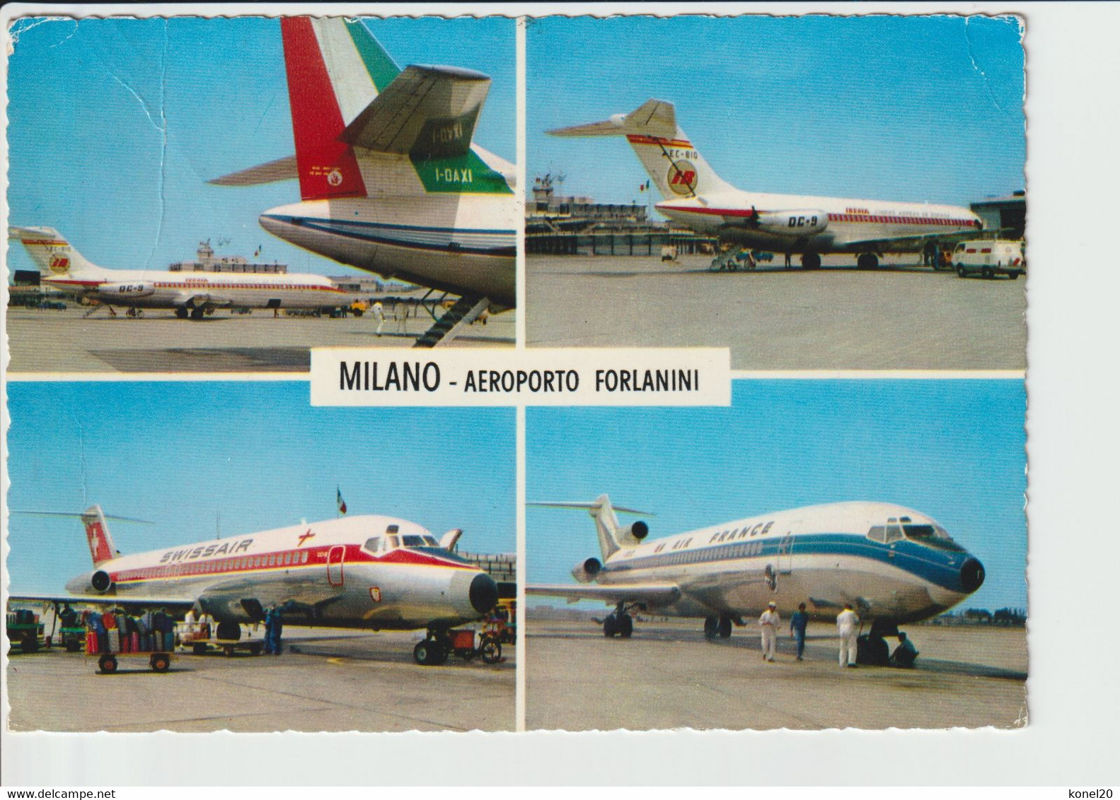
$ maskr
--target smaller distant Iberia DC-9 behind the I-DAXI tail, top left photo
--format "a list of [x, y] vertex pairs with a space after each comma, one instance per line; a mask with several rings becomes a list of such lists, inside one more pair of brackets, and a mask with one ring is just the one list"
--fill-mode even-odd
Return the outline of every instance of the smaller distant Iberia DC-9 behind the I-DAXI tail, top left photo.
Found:
[[43, 283], [110, 307], [175, 309], [179, 319], [197, 320], [216, 308], [327, 309], [347, 298], [323, 275], [105, 270], [54, 228], [10, 226], [8, 236], [27, 250]]

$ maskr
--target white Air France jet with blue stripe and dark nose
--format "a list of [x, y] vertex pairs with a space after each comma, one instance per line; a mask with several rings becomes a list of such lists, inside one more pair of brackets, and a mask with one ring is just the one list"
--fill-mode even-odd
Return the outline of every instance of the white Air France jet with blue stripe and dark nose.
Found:
[[600, 600], [615, 606], [608, 637], [629, 637], [633, 610], [704, 620], [704, 634], [731, 636], [731, 625], [768, 603], [790, 614], [834, 618], [851, 603], [861, 620], [889, 630], [951, 609], [983, 583], [980, 562], [937, 523], [885, 502], [837, 502], [736, 519], [646, 542], [643, 521], [620, 527], [606, 495], [594, 502], [534, 502], [587, 509], [603, 559], [572, 570], [575, 585], [530, 585], [528, 594]]

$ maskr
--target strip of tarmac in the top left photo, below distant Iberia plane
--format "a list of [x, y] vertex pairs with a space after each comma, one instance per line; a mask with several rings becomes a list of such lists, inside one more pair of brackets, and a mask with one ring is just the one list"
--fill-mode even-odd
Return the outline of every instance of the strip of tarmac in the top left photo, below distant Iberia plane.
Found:
[[[271, 311], [202, 320], [176, 319], [171, 311], [146, 311], [142, 319], [86, 309], [9, 308], [11, 373], [306, 373], [311, 347], [412, 347], [432, 320], [423, 310], [402, 323], [385, 320], [382, 336], [372, 314], [342, 319], [273, 317]], [[512, 347], [515, 311], [475, 322], [449, 347]]]

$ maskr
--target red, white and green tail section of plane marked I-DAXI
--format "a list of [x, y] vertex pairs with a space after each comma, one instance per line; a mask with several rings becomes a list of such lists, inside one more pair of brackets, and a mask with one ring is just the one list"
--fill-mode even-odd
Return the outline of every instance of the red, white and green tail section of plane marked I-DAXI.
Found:
[[[296, 154], [217, 178], [299, 178], [269, 233], [361, 270], [459, 295], [418, 346], [515, 304], [515, 168], [472, 143], [491, 78], [403, 70], [358, 20], [280, 20]], [[513, 124], [513, 120], [510, 120]]]

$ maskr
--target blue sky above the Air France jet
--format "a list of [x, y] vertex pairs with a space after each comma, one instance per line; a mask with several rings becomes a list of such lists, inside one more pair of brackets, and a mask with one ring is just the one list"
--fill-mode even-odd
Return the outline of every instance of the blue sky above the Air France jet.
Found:
[[[655, 512], [654, 538], [813, 503], [897, 502], [983, 563], [965, 606], [1026, 608], [1025, 413], [1021, 380], [736, 380], [729, 408], [529, 408], [525, 499], [606, 492]], [[572, 566], [601, 557], [584, 511], [529, 508], [525, 530], [531, 583], [571, 583]]]

